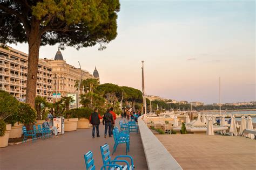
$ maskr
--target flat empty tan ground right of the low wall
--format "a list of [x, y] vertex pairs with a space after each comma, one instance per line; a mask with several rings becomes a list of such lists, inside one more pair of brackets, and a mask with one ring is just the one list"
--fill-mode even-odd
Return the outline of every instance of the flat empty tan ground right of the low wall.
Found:
[[256, 169], [256, 142], [252, 139], [200, 134], [156, 137], [183, 169]]

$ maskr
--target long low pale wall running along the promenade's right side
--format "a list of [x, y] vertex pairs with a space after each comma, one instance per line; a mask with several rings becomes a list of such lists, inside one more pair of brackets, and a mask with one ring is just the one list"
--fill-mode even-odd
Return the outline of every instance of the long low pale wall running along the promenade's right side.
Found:
[[138, 119], [140, 137], [147, 160], [149, 169], [182, 169], [178, 162], [166, 150], [163, 144], [157, 139], [142, 120], [143, 116]]

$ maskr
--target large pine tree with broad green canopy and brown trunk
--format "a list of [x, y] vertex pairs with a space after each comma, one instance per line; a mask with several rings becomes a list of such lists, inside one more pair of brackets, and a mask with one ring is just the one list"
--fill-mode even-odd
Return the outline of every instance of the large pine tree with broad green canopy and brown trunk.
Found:
[[119, 0], [0, 0], [0, 43], [29, 45], [26, 103], [35, 107], [39, 48], [105, 44], [117, 36]]

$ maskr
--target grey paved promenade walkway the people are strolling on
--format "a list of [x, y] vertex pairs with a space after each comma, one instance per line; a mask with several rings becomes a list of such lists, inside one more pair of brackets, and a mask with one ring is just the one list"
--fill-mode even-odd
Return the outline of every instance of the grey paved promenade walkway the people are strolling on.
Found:
[[[118, 122], [118, 120], [117, 120]], [[0, 169], [86, 169], [83, 154], [93, 152], [96, 169], [103, 165], [100, 146], [105, 143], [113, 150], [113, 138], [104, 138], [104, 126], [100, 125], [100, 138], [92, 139], [92, 129], [65, 132], [59, 138], [36, 140], [0, 148]], [[128, 153], [133, 157], [136, 169], [147, 169], [140, 134], [131, 133]], [[125, 145], [119, 145], [116, 155], [125, 154]]]

